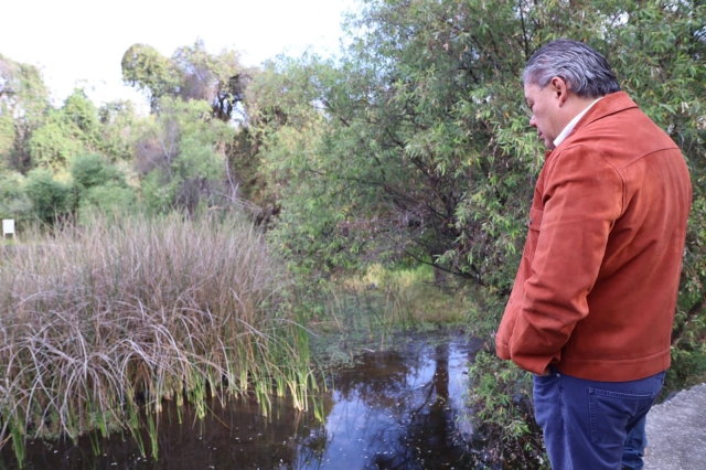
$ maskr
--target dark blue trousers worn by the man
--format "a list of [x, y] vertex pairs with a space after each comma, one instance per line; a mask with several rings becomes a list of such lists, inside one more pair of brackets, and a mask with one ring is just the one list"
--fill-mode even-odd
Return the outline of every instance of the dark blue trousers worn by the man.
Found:
[[644, 418], [664, 372], [631, 382], [596, 382], [555, 368], [534, 376], [535, 418], [554, 470], [642, 469]]

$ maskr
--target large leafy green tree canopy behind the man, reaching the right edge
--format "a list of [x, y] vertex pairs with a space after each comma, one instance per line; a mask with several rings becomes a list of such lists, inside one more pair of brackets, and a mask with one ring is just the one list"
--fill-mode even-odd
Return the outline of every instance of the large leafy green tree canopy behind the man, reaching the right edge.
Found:
[[544, 156], [522, 111], [530, 55], [556, 38], [602, 52], [699, 180], [705, 14], [698, 1], [365, 1], [342, 57], [280, 60], [248, 92], [282, 207], [274, 234], [298, 266], [417, 259], [503, 298]]

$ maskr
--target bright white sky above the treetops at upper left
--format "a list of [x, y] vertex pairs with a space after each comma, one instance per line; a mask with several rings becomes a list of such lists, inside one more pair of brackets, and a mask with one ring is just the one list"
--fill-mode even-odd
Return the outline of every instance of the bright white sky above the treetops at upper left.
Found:
[[308, 46], [335, 53], [342, 14], [355, 0], [8, 0], [0, 14], [0, 54], [42, 71], [53, 100], [76, 85], [96, 104], [145, 102], [122, 84], [120, 61], [143, 43], [171, 56], [203, 40], [206, 50], [239, 51], [244, 65]]

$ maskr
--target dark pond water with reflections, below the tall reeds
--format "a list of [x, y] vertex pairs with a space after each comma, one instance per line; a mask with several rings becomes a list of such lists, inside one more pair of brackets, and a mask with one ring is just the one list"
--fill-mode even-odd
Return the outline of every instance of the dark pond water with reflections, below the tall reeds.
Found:
[[[462, 339], [414, 340], [394, 351], [365, 353], [338, 374], [319, 400], [324, 416], [272, 402], [264, 417], [249, 398], [204, 419], [165, 406], [159, 420], [159, 460], [142, 457], [129, 436], [71, 444], [28, 442], [32, 470], [78, 469], [469, 469], [472, 429], [459, 420], [468, 363], [479, 344]], [[179, 412], [179, 413], [178, 413]], [[179, 417], [181, 416], [181, 424]], [[96, 455], [94, 446], [101, 449]], [[145, 447], [149, 453], [149, 438]], [[1, 469], [15, 469], [11, 446]], [[480, 468], [480, 467], [477, 467]]]

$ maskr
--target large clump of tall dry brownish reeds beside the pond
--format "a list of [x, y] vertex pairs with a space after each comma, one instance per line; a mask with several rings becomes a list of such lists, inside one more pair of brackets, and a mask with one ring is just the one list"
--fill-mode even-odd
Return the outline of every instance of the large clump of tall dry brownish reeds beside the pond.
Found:
[[145, 419], [157, 457], [164, 399], [201, 416], [207, 394], [306, 406], [308, 334], [247, 221], [96, 215], [24, 239], [0, 252], [0, 446], [20, 462], [25, 438], [137, 438]]

